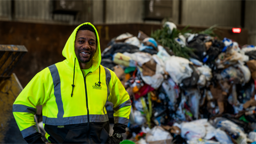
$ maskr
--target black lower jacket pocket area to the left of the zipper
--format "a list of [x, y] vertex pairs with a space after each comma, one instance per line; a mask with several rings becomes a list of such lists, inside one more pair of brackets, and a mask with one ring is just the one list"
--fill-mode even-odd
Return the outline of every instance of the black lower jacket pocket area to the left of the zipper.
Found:
[[87, 127], [70, 129], [63, 144], [67, 143], [87, 143]]

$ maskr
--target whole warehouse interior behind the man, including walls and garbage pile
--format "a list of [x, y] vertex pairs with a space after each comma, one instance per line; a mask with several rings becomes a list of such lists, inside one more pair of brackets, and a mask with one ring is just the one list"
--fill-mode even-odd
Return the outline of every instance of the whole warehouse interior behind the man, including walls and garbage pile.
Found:
[[[256, 143], [255, 0], [0, 0], [0, 143], [27, 143], [13, 102], [39, 71], [65, 60], [62, 49], [84, 22], [99, 33], [101, 65], [132, 100], [126, 142]], [[42, 115], [38, 106], [38, 125]]]

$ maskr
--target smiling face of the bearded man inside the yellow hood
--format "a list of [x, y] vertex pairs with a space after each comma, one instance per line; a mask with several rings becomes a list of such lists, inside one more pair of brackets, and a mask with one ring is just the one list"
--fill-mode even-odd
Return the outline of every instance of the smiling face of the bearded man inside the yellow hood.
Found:
[[76, 34], [75, 53], [82, 63], [89, 62], [97, 50], [96, 36], [90, 30], [79, 30]]

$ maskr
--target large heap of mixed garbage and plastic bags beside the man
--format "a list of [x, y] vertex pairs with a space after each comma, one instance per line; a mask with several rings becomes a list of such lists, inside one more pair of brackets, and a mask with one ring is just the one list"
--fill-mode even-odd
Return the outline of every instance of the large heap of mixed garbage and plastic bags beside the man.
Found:
[[[171, 22], [163, 29], [177, 33]], [[256, 143], [256, 47], [202, 33], [170, 41], [161, 35], [125, 33], [102, 52], [101, 65], [116, 73], [132, 101], [126, 139]], [[178, 57], [185, 47], [189, 57]]]

